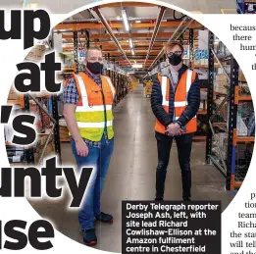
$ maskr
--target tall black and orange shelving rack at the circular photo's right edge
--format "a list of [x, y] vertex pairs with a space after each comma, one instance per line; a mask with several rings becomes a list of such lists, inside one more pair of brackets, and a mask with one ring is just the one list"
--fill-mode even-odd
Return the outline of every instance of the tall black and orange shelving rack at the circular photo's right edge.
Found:
[[[237, 107], [240, 102], [251, 101], [249, 94], [244, 95], [239, 87], [239, 66], [231, 54], [218, 57], [214, 49], [215, 36], [209, 31], [209, 88], [208, 88], [208, 131], [206, 140], [206, 162], [214, 164], [226, 177], [226, 189], [239, 188], [246, 176], [250, 158], [240, 159], [239, 145], [254, 142], [254, 136], [239, 136], [237, 129]], [[226, 93], [214, 89], [216, 72], [215, 59], [229, 80]], [[230, 74], [224, 68], [230, 63]], [[215, 106], [214, 97], [220, 96], [220, 105]], [[254, 112], [251, 112], [254, 116]], [[214, 149], [215, 144], [215, 149]], [[247, 151], [247, 150], [246, 150]], [[245, 152], [244, 152], [245, 153]], [[243, 165], [243, 166], [242, 166]]]

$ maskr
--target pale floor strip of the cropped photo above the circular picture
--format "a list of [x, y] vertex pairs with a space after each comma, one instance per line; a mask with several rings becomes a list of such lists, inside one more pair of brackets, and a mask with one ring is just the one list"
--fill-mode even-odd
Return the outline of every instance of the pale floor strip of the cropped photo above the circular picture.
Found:
[[[21, 0], [1, 0], [1, 6], [6, 8], [22, 7], [23, 2]], [[38, 3], [39, 8], [47, 8], [51, 13], [56, 14], [68, 14], [69, 12], [75, 11], [77, 8], [98, 2], [99, 4], [103, 1], [94, 0], [26, 0], [26, 3]], [[204, 14], [221, 14], [222, 9], [231, 9], [231, 13], [235, 13], [235, 0], [163, 0], [163, 2], [175, 5], [188, 12], [202, 12]], [[226, 12], [225, 12], [226, 13]], [[229, 13], [229, 12], [227, 12]]]

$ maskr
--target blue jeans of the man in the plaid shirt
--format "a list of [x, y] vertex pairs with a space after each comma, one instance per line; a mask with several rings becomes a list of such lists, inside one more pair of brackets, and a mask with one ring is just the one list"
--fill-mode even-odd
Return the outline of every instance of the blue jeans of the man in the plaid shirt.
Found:
[[100, 148], [87, 144], [89, 150], [87, 157], [78, 156], [76, 143], [73, 139], [71, 143], [78, 170], [82, 167], [94, 168], [78, 212], [80, 228], [82, 230], [94, 229], [95, 216], [99, 215], [101, 212], [100, 196], [108, 173], [111, 155], [114, 150], [114, 138], [111, 139], [109, 143], [106, 143], [106, 139], [103, 137]]

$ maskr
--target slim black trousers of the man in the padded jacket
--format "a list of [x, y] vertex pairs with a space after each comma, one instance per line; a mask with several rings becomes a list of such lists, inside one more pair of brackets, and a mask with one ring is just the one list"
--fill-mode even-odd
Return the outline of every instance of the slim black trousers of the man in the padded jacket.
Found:
[[172, 137], [156, 132], [158, 165], [156, 170], [156, 197], [164, 197], [167, 167], [170, 159], [170, 151], [175, 138], [179, 154], [179, 167], [182, 180], [182, 197], [190, 197], [191, 170], [190, 154], [193, 134], [182, 134]]

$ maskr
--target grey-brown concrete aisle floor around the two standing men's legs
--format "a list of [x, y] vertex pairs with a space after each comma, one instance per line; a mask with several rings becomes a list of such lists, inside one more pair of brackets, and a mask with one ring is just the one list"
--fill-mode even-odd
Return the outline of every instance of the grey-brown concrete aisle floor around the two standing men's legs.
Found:
[[[98, 245], [104, 251], [122, 251], [122, 200], [153, 200], [157, 149], [154, 137], [154, 116], [148, 98], [139, 86], [114, 109], [115, 151], [102, 195], [102, 211], [114, 216], [114, 225], [97, 224]], [[195, 142], [191, 154], [193, 200], [222, 200], [223, 210], [230, 204], [232, 194], [224, 190], [225, 178], [213, 166], [204, 164], [205, 143]], [[69, 143], [62, 144], [63, 164], [74, 164]], [[173, 146], [166, 200], [179, 200], [181, 180], [176, 146]], [[82, 243], [77, 212], [67, 211], [67, 195], [58, 202], [32, 201], [34, 209], [43, 218]]]

